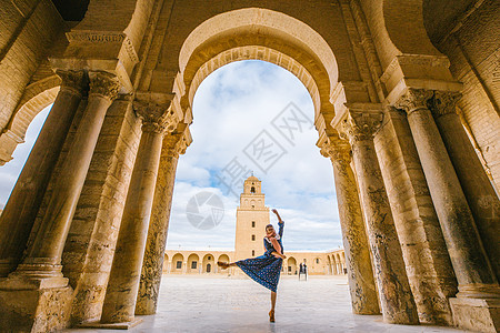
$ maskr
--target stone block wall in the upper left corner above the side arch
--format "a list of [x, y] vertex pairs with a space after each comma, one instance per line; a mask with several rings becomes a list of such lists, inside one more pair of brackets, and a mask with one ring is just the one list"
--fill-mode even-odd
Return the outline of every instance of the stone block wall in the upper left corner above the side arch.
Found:
[[[26, 87], [63, 26], [50, 0], [4, 1], [0, 6], [0, 130], [9, 124]], [[11, 159], [13, 149], [23, 139], [3, 135], [0, 135], [0, 164]]]

